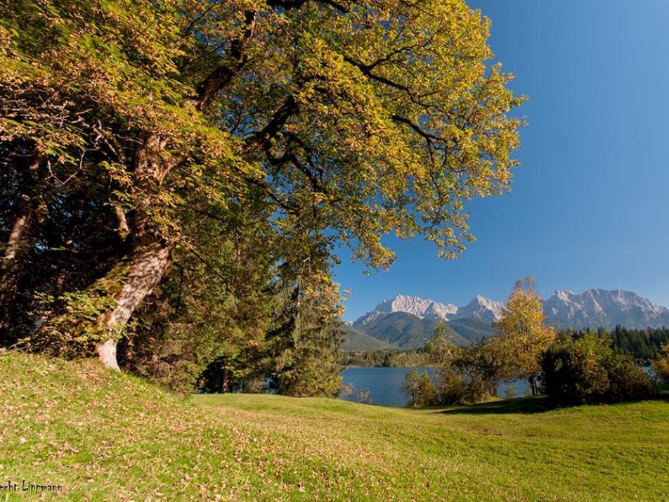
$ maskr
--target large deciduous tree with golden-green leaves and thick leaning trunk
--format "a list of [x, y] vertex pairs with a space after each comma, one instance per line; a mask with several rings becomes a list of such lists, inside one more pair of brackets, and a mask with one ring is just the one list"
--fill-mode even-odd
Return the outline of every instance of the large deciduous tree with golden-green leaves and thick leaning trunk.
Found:
[[455, 256], [517, 164], [488, 27], [460, 0], [0, 0], [2, 335], [117, 367], [195, 210], [261, 207], [280, 256], [327, 235], [388, 266], [391, 232]]

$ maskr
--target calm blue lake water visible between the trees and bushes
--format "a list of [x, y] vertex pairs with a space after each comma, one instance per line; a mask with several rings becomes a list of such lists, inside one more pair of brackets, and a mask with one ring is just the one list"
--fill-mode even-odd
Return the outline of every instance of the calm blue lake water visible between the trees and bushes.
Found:
[[[353, 385], [354, 390], [350, 395], [342, 394], [340, 397], [347, 401], [361, 401], [361, 392], [368, 392], [365, 402], [381, 404], [383, 406], [406, 406], [409, 397], [402, 388], [404, 377], [413, 368], [346, 368], [342, 371], [344, 385]], [[434, 375], [433, 368], [416, 368], [420, 372]], [[527, 390], [527, 382], [518, 380], [514, 382], [516, 397], [521, 397]], [[501, 385], [498, 390], [500, 397], [505, 397], [509, 385]], [[366, 396], [363, 396], [366, 397]]]

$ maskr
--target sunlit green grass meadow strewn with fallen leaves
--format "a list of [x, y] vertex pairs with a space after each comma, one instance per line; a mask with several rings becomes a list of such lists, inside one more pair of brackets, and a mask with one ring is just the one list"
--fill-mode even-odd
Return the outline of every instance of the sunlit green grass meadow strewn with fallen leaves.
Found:
[[0, 484], [63, 485], [45, 498], [669, 499], [669, 392], [553, 411], [531, 398], [415, 411], [268, 395], [184, 401], [92, 361], [11, 352], [0, 371]]

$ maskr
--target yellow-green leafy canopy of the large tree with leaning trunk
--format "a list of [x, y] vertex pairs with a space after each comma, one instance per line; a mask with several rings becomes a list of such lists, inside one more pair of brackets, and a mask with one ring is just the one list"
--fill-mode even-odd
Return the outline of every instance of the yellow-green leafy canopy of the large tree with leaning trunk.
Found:
[[[453, 257], [464, 202], [501, 193], [523, 101], [486, 45], [490, 22], [456, 0], [19, 0], [0, 19], [4, 142], [53, 172], [103, 165], [132, 210], [188, 242], [193, 198], [259, 188], [280, 231], [325, 231], [387, 266], [385, 233], [424, 233]], [[156, 183], [131, 176], [160, 135]]]

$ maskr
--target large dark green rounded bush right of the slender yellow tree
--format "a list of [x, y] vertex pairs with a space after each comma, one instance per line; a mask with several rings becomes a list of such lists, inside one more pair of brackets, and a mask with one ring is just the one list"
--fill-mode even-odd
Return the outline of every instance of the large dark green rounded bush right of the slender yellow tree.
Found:
[[543, 391], [556, 404], [632, 401], [651, 397], [651, 378], [630, 356], [616, 352], [608, 335], [564, 337], [542, 361]]

